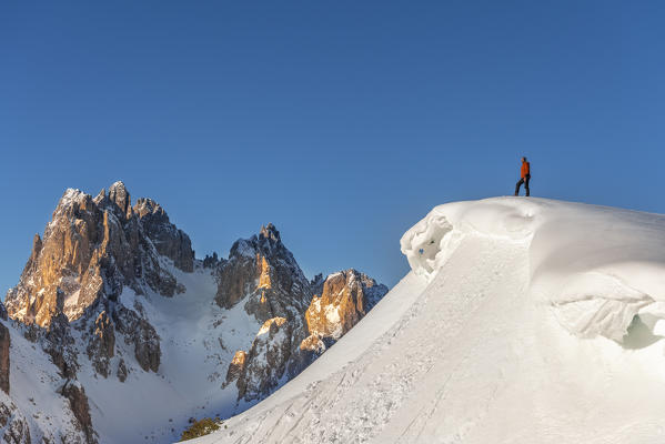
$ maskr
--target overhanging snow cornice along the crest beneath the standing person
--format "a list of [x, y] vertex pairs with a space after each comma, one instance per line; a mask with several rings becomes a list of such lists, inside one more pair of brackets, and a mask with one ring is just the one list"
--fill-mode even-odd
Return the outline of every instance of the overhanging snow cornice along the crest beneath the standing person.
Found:
[[665, 313], [665, 218], [544, 199], [491, 199], [436, 206], [401, 240], [432, 279], [460, 239], [528, 242], [532, 297], [556, 307], [572, 333], [622, 341], [637, 313]]

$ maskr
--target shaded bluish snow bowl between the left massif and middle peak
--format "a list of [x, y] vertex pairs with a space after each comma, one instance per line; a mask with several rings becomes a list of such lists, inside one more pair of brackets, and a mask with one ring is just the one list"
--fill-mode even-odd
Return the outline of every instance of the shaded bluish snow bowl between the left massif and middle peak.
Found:
[[158, 373], [141, 371], [133, 346], [122, 341], [115, 345], [130, 367], [124, 383], [99, 377], [90, 361], [79, 359], [83, 367], [78, 377], [90, 400], [92, 424], [101, 443], [175, 441], [190, 416], [236, 412], [238, 390], [235, 385], [222, 389], [222, 383], [235, 350], [248, 347], [261, 325], [242, 303], [223, 310], [213, 302], [216, 284], [210, 270], [197, 268], [184, 273], [173, 266], [169, 271], [184, 284], [185, 293], [137, 296], [124, 289], [120, 296], [130, 307], [138, 300], [161, 337]]

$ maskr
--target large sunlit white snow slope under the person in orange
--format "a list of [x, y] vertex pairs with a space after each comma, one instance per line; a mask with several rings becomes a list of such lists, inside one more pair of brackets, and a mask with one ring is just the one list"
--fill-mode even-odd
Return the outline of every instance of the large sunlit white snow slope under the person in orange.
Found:
[[665, 216], [496, 198], [401, 244], [372, 312], [198, 442], [665, 442]]

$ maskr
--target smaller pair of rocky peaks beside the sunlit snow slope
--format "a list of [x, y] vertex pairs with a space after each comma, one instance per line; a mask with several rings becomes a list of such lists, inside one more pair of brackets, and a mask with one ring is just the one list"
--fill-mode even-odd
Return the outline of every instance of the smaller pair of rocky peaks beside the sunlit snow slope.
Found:
[[[314, 292], [321, 296], [312, 297]], [[221, 266], [216, 302], [230, 309], [245, 301], [245, 311], [263, 326], [249, 352], [236, 353], [239, 362], [230, 364], [226, 384], [236, 380], [239, 400], [268, 396], [351, 330], [385, 293], [385, 285], [355, 270], [308, 281], [272, 224], [239, 240]]]

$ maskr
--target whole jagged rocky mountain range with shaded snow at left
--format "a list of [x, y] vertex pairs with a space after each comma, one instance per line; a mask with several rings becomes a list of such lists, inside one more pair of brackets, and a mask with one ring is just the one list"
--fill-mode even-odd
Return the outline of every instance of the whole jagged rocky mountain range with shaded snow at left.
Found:
[[122, 182], [95, 198], [67, 190], [0, 304], [0, 436], [178, 441], [190, 417], [268, 396], [386, 292], [353, 269], [309, 281], [272, 224], [228, 259], [198, 260]]

